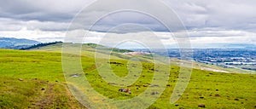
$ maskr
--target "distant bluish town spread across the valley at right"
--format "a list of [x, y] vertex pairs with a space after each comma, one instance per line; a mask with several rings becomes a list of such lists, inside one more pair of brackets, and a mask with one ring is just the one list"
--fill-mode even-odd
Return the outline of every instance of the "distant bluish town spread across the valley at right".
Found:
[[[134, 49], [140, 52], [150, 52], [147, 49]], [[151, 51], [155, 54], [180, 59], [179, 49], [168, 49], [168, 54]], [[256, 49], [193, 49], [193, 60], [205, 64], [222, 66], [225, 68], [240, 68], [256, 71]]]

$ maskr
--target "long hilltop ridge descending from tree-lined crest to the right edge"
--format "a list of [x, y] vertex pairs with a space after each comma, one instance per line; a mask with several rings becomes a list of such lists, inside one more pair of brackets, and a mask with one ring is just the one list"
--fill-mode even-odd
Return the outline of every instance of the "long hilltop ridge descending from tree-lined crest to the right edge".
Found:
[[[73, 43], [65, 43], [65, 44], [73, 44]], [[62, 50], [62, 42], [53, 42], [53, 43], [39, 43], [36, 45], [33, 45], [29, 48], [26, 48], [26, 50], [32, 50], [32, 51], [49, 51], [49, 52], [58, 52], [61, 53]], [[112, 52], [112, 58], [114, 59], [130, 59], [131, 57], [137, 57], [140, 60], [147, 61], [147, 62], [153, 62], [152, 54], [148, 52], [137, 52], [136, 50], [130, 50], [130, 49], [118, 49], [118, 48], [108, 48], [103, 45], [99, 45], [96, 43], [83, 43], [82, 44], [82, 55], [87, 55], [90, 57], [95, 56], [96, 50], [98, 52], [101, 52], [103, 57], [108, 57], [108, 51]], [[104, 52], [105, 51], [105, 52]], [[177, 58], [171, 58], [172, 65], [175, 66], [183, 66], [185, 63], [191, 63], [189, 60], [177, 60]], [[193, 66], [191, 66], [195, 69], [205, 70], [205, 71], [212, 71], [212, 72], [224, 72], [224, 73], [252, 73], [256, 74], [256, 72], [248, 71], [248, 70], [242, 70], [237, 68], [224, 68], [221, 66], [215, 66], [210, 65], [206, 63], [201, 63], [197, 61], [193, 61]]]

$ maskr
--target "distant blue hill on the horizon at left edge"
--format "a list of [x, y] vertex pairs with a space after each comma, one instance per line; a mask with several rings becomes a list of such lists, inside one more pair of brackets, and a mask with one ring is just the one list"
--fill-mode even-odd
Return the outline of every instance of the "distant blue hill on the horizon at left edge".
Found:
[[25, 38], [0, 37], [0, 48], [2, 49], [21, 49], [38, 43], [40, 42]]

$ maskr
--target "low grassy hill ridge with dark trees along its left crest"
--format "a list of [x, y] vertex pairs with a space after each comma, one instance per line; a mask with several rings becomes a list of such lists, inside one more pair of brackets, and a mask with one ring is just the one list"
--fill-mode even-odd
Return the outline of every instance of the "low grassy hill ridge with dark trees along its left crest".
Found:
[[[53, 42], [53, 43], [39, 43], [33, 45], [29, 48], [23, 48], [22, 50], [28, 51], [49, 51], [55, 53], [61, 53], [63, 44], [66, 46], [74, 46], [81, 45], [79, 43], [62, 43], [62, 42]], [[110, 48], [107, 46], [103, 46], [96, 43], [83, 43], [81, 46], [81, 54], [88, 57], [95, 57], [95, 54], [101, 55], [102, 58], [109, 58], [109, 51], [111, 51], [111, 57], [116, 60], [129, 60], [131, 59], [131, 55], [127, 55], [124, 53], [134, 52], [130, 49], [118, 49], [118, 48]], [[133, 55], [134, 56], [134, 55]], [[150, 54], [136, 55], [137, 59], [142, 61], [151, 62], [152, 56]]]

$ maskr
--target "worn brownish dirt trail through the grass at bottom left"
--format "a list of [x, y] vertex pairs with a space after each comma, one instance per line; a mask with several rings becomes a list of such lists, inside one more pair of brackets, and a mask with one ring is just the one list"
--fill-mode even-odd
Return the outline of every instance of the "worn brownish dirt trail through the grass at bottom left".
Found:
[[48, 108], [70, 108], [70, 109], [84, 109], [82, 104], [76, 100], [71, 91], [65, 83], [44, 83], [40, 89], [36, 89], [38, 97], [31, 100], [32, 106], [29, 108], [48, 109]]

